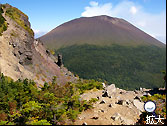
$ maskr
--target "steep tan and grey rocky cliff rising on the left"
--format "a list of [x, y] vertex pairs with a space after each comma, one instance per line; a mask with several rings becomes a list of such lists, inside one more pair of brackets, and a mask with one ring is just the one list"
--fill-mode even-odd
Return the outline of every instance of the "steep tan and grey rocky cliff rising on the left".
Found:
[[38, 85], [51, 81], [53, 76], [59, 84], [76, 80], [71, 72], [56, 64], [57, 57], [34, 39], [27, 15], [8, 4], [0, 7], [7, 24], [0, 36], [1, 73], [14, 80], [33, 79]]

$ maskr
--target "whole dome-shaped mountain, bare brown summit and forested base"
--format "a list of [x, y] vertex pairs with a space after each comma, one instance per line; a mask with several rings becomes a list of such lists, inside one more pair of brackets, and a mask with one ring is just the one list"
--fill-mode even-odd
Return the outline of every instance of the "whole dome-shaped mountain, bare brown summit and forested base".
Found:
[[39, 38], [63, 55], [64, 65], [84, 79], [102, 79], [119, 88], [163, 87], [165, 44], [123, 19], [84, 17]]

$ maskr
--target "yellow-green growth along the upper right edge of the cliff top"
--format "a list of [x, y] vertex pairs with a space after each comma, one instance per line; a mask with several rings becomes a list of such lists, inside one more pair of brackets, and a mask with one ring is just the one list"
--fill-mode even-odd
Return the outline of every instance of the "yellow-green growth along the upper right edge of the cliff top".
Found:
[[[8, 5], [8, 6], [10, 6], [10, 5]], [[23, 19], [21, 19], [21, 17], [24, 16], [28, 20], [27, 15], [25, 15], [23, 12], [21, 12], [19, 9], [17, 9], [15, 7], [12, 7], [12, 6], [6, 7], [6, 5], [4, 5], [4, 7], [6, 8], [6, 15], [7, 16], [9, 16], [14, 21], [16, 21], [16, 23], [18, 25], [20, 25], [22, 28], [24, 28], [26, 31], [28, 31], [31, 35], [34, 35], [33, 30], [25, 24]]]

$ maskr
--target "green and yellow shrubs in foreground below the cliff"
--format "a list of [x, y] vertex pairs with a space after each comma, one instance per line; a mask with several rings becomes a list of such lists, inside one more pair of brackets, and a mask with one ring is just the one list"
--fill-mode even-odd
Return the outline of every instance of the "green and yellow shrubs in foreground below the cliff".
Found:
[[79, 113], [97, 101], [84, 101], [79, 95], [85, 90], [102, 88], [102, 84], [94, 80], [64, 86], [55, 82], [56, 77], [37, 88], [32, 80], [13, 81], [1, 74], [0, 125], [72, 124]]

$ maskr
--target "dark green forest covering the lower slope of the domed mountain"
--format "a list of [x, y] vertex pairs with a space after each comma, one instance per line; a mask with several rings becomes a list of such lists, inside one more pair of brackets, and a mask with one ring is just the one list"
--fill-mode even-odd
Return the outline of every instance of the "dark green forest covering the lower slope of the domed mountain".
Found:
[[83, 79], [102, 79], [117, 87], [164, 87], [166, 48], [157, 46], [73, 45], [55, 51], [71, 72]]

